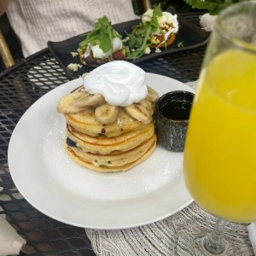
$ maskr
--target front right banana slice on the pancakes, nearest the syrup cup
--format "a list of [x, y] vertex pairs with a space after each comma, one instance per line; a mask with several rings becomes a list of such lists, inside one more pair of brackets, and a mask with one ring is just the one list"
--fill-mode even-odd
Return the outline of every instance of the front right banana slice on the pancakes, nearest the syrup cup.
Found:
[[124, 108], [126, 113], [128, 113], [132, 118], [137, 119], [144, 124], [148, 124], [152, 120], [153, 105], [148, 100], [133, 103], [130, 106]]

